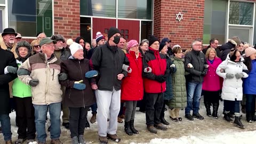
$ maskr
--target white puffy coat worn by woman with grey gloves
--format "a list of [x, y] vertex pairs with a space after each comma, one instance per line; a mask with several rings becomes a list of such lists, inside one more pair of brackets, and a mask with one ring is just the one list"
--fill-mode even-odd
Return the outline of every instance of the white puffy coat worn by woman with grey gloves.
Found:
[[[241, 61], [243, 61], [244, 58], [241, 56]], [[221, 73], [221, 69], [225, 70], [225, 73]], [[242, 79], [236, 79], [234, 78], [226, 78], [226, 74], [237, 74], [237, 73], [243, 73], [244, 76], [243, 78], [248, 77], [248, 75], [243, 72], [243, 70], [247, 70], [247, 67], [244, 65], [243, 62], [234, 62], [231, 61], [229, 58], [229, 55], [227, 56], [227, 59], [225, 61], [222, 61], [220, 65], [217, 68], [216, 73], [220, 76], [223, 77], [223, 86], [222, 86], [222, 93], [221, 93], [221, 98], [223, 100], [231, 100], [235, 101], [237, 100], [242, 100], [243, 98], [243, 81]]]

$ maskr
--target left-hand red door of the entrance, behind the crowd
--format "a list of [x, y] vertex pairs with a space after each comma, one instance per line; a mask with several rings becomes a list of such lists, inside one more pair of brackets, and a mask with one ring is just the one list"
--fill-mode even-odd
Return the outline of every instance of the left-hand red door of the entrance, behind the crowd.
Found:
[[96, 37], [96, 33], [108, 34], [110, 27], [116, 27], [116, 19], [92, 18], [92, 39]]

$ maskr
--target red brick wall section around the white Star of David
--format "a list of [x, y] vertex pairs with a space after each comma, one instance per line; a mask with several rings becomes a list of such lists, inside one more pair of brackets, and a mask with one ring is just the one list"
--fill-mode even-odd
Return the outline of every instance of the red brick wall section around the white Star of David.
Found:
[[[183, 20], [176, 20], [181, 12]], [[160, 40], [172, 39], [172, 45], [179, 44], [189, 49], [195, 38], [203, 38], [204, 0], [155, 0], [154, 35]]]

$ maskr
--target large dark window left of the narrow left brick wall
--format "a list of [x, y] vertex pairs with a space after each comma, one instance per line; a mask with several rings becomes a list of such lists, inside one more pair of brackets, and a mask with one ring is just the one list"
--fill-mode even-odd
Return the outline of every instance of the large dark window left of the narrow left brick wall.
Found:
[[52, 0], [9, 0], [9, 27], [22, 36], [52, 35]]

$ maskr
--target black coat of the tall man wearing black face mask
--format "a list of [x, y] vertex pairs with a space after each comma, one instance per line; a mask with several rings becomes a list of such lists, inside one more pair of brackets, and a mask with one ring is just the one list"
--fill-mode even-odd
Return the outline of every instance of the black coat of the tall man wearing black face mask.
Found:
[[100, 73], [98, 89], [113, 91], [114, 86], [116, 91], [121, 90], [122, 81], [117, 79], [117, 75], [124, 74], [127, 76], [127, 72], [123, 70], [123, 64], [130, 64], [124, 52], [117, 46], [109, 46], [108, 43], [94, 49], [90, 59], [90, 67]]

